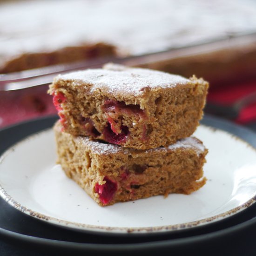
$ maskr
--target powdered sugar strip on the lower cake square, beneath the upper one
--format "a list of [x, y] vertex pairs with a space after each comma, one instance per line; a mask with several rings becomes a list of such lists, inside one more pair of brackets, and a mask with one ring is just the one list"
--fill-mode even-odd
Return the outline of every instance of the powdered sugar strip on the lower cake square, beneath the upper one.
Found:
[[[88, 137], [77, 137], [75, 140], [77, 140], [79, 143], [83, 143], [86, 146], [88, 146], [94, 154], [103, 155], [103, 154], [116, 154], [116, 153], [122, 153], [122, 154], [128, 154], [131, 155], [134, 152], [140, 152], [140, 150], [131, 149], [131, 148], [123, 148], [119, 145], [114, 144], [106, 144], [99, 141], [91, 141]], [[145, 152], [152, 153], [154, 151], [173, 151], [178, 148], [191, 148], [194, 149], [199, 155], [200, 153], [204, 152], [205, 147], [203, 146], [202, 142], [196, 139], [195, 137], [188, 137], [182, 140], [177, 141], [176, 143], [168, 146], [167, 148], [159, 147], [159, 148], [152, 148], [148, 149]]]

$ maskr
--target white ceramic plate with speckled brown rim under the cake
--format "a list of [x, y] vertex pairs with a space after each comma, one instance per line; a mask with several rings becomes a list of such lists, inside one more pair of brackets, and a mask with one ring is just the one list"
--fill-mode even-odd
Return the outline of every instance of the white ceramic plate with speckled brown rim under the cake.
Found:
[[195, 136], [209, 149], [204, 165], [208, 182], [191, 195], [100, 207], [55, 165], [52, 129], [27, 137], [2, 155], [0, 195], [20, 211], [53, 224], [118, 233], [187, 229], [221, 220], [254, 203], [256, 149], [202, 125]]

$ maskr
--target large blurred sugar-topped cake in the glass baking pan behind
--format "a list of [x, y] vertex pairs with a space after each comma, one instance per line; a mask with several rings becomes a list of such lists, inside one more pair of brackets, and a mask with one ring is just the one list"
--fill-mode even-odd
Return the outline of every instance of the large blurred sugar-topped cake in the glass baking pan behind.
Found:
[[[0, 3], [0, 73], [229, 39], [255, 31], [255, 15], [256, 3], [244, 0], [6, 1]], [[203, 49], [200, 56], [185, 51], [182, 58], [176, 54], [154, 68], [188, 76], [190, 68], [213, 70], [215, 63], [243, 67], [244, 55], [249, 66], [256, 47], [254, 42], [245, 49], [242, 44], [238, 50], [226, 47], [221, 54], [206, 55], [214, 51]], [[225, 73], [222, 69], [218, 73]]]

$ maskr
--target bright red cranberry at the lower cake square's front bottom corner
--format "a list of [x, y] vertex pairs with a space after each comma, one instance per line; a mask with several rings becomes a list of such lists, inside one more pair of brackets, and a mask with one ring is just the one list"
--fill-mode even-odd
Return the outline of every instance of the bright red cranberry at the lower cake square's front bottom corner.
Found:
[[101, 202], [108, 204], [117, 190], [117, 183], [110, 180], [107, 176], [104, 177], [103, 181], [106, 181], [106, 183], [103, 185], [96, 183], [94, 189], [100, 195]]

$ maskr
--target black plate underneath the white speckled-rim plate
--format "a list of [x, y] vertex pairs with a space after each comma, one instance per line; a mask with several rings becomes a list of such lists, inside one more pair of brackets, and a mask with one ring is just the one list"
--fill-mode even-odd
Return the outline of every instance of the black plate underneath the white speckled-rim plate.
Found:
[[[0, 154], [12, 146], [13, 143], [20, 141], [20, 139], [42, 129], [51, 127], [55, 120], [56, 117], [35, 120], [0, 131]], [[246, 128], [209, 116], [205, 116], [202, 123], [211, 127], [227, 130], [229, 133], [241, 137], [243, 140], [248, 141], [251, 145], [256, 147], [255, 133]], [[146, 252], [154, 249], [160, 251], [172, 249], [174, 252], [175, 250], [181, 251], [182, 248], [184, 250], [182, 245], [186, 245], [186, 250], [192, 247], [195, 249], [197, 244], [199, 246], [200, 241], [204, 242], [205, 246], [208, 243], [211, 243], [212, 246], [214, 246], [215, 242], [218, 243], [224, 241], [223, 237], [225, 237], [225, 241], [227, 242], [227, 239], [231, 236], [230, 234], [232, 234], [233, 238], [235, 238], [236, 235], [239, 237], [241, 236], [240, 244], [242, 242], [249, 244], [250, 237], [256, 233], [250, 233], [255, 230], [252, 229], [252, 227], [256, 226], [256, 221], [254, 219], [254, 216], [256, 215], [255, 204], [234, 216], [204, 226], [151, 235], [142, 234], [140, 236], [131, 234], [106, 235], [106, 233], [93, 231], [81, 233], [80, 231], [52, 226], [21, 213], [4, 202], [3, 199], [0, 199], [0, 208], [1, 236], [8, 240], [14, 239], [16, 242], [32, 242], [37, 246], [47, 245], [47, 247], [43, 246], [45, 249], [49, 249], [50, 247], [55, 249], [62, 248], [65, 249], [65, 251], [67, 249], [86, 251], [88, 253], [104, 251], [105, 253], [110, 253], [112, 255], [118, 255], [124, 251], [139, 253], [141, 250]], [[244, 235], [243, 232], [245, 233]], [[244, 239], [246, 240], [244, 241]], [[228, 244], [226, 243], [226, 245]], [[234, 252], [237, 252], [239, 248], [242, 247], [239, 247], [239, 244], [233, 244], [232, 248], [234, 249]], [[248, 249], [249, 247], [247, 246], [246, 248]]]

